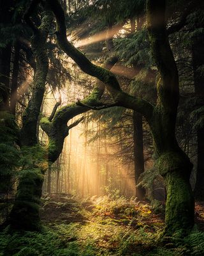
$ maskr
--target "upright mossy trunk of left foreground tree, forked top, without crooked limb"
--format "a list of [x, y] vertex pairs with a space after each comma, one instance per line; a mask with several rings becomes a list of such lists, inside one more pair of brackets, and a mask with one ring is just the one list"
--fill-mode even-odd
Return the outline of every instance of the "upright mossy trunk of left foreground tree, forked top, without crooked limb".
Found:
[[[20, 142], [22, 147], [31, 147], [31, 150], [32, 147], [36, 147], [37, 151], [32, 156], [33, 166], [28, 166], [27, 170], [24, 170], [20, 175], [15, 202], [10, 213], [11, 227], [23, 230], [38, 230], [40, 228], [40, 198], [46, 170], [38, 163], [38, 159], [35, 159], [38, 156], [38, 151], [41, 150], [40, 146], [36, 146], [36, 127], [48, 72], [47, 36], [52, 23], [52, 15], [50, 12], [43, 13], [41, 26], [36, 28], [29, 19], [32, 12], [33, 6], [31, 4], [25, 13], [25, 20], [33, 29], [32, 45], [36, 56], [36, 72], [33, 93], [23, 116]], [[43, 154], [41, 157], [45, 158]]]

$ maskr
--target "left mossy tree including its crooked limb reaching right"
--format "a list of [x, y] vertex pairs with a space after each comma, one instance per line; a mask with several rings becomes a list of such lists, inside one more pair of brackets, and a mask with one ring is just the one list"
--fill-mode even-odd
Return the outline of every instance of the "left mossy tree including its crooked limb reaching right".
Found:
[[[33, 93], [22, 117], [20, 144], [24, 147], [38, 148], [39, 152], [41, 152], [40, 156], [43, 158], [43, 163], [39, 159], [39, 154], [33, 155], [33, 167], [31, 168], [29, 165], [31, 169], [20, 175], [15, 202], [10, 213], [11, 227], [25, 230], [38, 230], [40, 228], [39, 207], [45, 171], [61, 154], [64, 138], [68, 136], [69, 129], [81, 122], [83, 117], [69, 126], [67, 125], [68, 120], [89, 110], [89, 107], [71, 104], [57, 111], [59, 106], [59, 102], [57, 102], [51, 115], [48, 118], [41, 118], [41, 127], [47, 132], [49, 138], [48, 154], [38, 145], [36, 137], [38, 118], [48, 74], [47, 36], [51, 28], [50, 26], [52, 26], [52, 15], [50, 15], [49, 8], [47, 10], [46, 4], [40, 26], [36, 26], [36, 23], [31, 20], [30, 17], [38, 3], [39, 1], [31, 1], [29, 8], [24, 14], [25, 21], [33, 31], [32, 46], [34, 56], [36, 56], [36, 70]], [[115, 58], [110, 58], [106, 63], [106, 67], [111, 68], [115, 61], [117, 61]], [[84, 99], [84, 104], [86, 102], [94, 106], [98, 104], [100, 108], [103, 104], [101, 104], [99, 99], [104, 92], [104, 88], [104, 84], [97, 84], [94, 92]]]

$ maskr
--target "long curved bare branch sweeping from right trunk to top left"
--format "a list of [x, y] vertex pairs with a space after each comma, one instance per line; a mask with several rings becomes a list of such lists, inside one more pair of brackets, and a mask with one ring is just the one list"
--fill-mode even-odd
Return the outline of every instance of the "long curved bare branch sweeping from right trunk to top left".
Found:
[[147, 120], [150, 120], [154, 109], [152, 104], [146, 100], [132, 97], [128, 93], [122, 92], [119, 82], [112, 72], [94, 65], [82, 52], [78, 51], [67, 39], [64, 12], [61, 4], [57, 0], [47, 0], [47, 3], [55, 15], [57, 23], [56, 35], [59, 47], [77, 63], [82, 71], [105, 83], [108, 92], [110, 92], [115, 102], [118, 102], [120, 106], [124, 106], [125, 108], [135, 109], [142, 113]]

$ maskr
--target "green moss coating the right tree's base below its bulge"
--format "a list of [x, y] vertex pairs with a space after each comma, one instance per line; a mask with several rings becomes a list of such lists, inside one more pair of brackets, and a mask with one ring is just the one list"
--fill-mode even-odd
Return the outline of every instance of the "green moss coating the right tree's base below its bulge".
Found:
[[194, 225], [194, 198], [189, 180], [179, 172], [168, 172], [164, 234], [186, 236]]

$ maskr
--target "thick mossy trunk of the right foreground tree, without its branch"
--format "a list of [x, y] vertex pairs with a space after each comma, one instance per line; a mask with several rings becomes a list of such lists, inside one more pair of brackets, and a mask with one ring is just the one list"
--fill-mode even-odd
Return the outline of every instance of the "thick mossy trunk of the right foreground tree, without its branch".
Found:
[[193, 165], [179, 148], [175, 121], [179, 104], [179, 77], [168, 42], [165, 1], [147, 1], [147, 28], [152, 55], [160, 74], [157, 106], [150, 127], [158, 156], [159, 173], [166, 183], [166, 218], [164, 234], [184, 234], [194, 225], [194, 198], [189, 177]]

